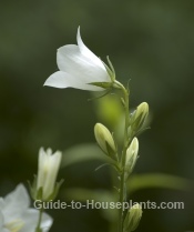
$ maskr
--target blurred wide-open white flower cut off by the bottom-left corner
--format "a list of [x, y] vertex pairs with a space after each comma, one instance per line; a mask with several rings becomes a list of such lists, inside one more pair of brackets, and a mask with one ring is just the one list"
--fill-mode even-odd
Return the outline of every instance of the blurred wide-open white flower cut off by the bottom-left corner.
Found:
[[[30, 208], [30, 199], [25, 188], [19, 184], [14, 191], [0, 198], [0, 232], [34, 232], [39, 211]], [[48, 232], [52, 219], [43, 213], [41, 229]]]

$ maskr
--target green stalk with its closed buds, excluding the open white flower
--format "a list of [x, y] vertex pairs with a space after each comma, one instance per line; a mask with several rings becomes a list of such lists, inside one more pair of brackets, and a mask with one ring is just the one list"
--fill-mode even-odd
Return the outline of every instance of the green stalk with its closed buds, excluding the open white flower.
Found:
[[[115, 149], [118, 147], [116, 142], [113, 140], [111, 132], [103, 124], [95, 124], [94, 134], [101, 150], [114, 160], [120, 180], [119, 201], [121, 205], [124, 205], [123, 203], [126, 201], [127, 196], [126, 182], [137, 160], [139, 140], [135, 135], [144, 125], [149, 114], [149, 105], [146, 102], [143, 102], [137, 107], [136, 111], [130, 114], [130, 90], [124, 88], [124, 85], [116, 80], [113, 81], [112, 88], [121, 91], [121, 101], [124, 108], [124, 138], [121, 154], [118, 154], [118, 149]], [[123, 206], [121, 206], [119, 210], [118, 232], [127, 231], [126, 222], [129, 220], [126, 220], [126, 218], [129, 218], [129, 213], [125, 213]]]

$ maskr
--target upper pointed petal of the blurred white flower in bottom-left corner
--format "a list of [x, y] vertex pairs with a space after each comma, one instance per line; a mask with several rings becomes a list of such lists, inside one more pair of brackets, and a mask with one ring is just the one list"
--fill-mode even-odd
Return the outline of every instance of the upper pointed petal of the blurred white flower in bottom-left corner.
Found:
[[1, 209], [6, 223], [14, 220], [30, 205], [30, 199], [23, 184], [19, 184], [14, 191], [4, 198], [4, 208]]

